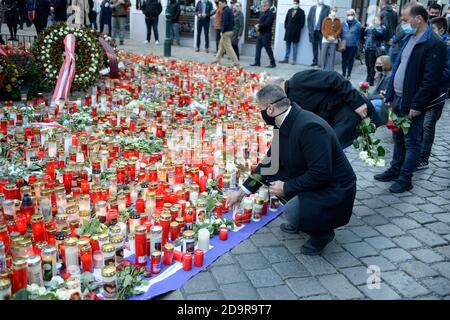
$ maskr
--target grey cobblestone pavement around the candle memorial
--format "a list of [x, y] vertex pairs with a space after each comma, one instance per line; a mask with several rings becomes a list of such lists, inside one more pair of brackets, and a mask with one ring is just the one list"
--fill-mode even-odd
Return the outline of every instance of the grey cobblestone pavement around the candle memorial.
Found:
[[[138, 53], [162, 54], [163, 46], [126, 41], [122, 47]], [[213, 54], [172, 47], [178, 59], [201, 62]], [[266, 61], [264, 60], [266, 59]], [[229, 60], [223, 59], [229, 64]], [[270, 70], [289, 77], [306, 66], [279, 65], [276, 69], [248, 68], [252, 57], [242, 57], [246, 69]], [[267, 64], [267, 56], [263, 60]], [[336, 66], [339, 70], [340, 66]], [[365, 66], [355, 63], [352, 82], [365, 77]], [[414, 175], [414, 188], [400, 195], [389, 183], [373, 179], [384, 168], [369, 168], [352, 148], [346, 154], [358, 177], [358, 192], [350, 223], [336, 230], [336, 238], [321, 256], [304, 256], [305, 234], [279, 229], [283, 216], [221, 256], [181, 289], [158, 299], [450, 299], [450, 111], [438, 122], [430, 168]], [[392, 153], [389, 131], [377, 133]], [[381, 272], [380, 289], [367, 286], [367, 267]]]

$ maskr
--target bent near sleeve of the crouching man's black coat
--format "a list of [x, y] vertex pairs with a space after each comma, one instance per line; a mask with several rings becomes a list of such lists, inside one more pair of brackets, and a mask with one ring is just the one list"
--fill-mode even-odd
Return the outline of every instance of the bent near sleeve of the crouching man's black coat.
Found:
[[323, 126], [308, 124], [298, 137], [297, 145], [308, 169], [301, 176], [285, 181], [283, 190], [287, 198], [323, 188], [329, 184], [333, 174], [332, 139]]

